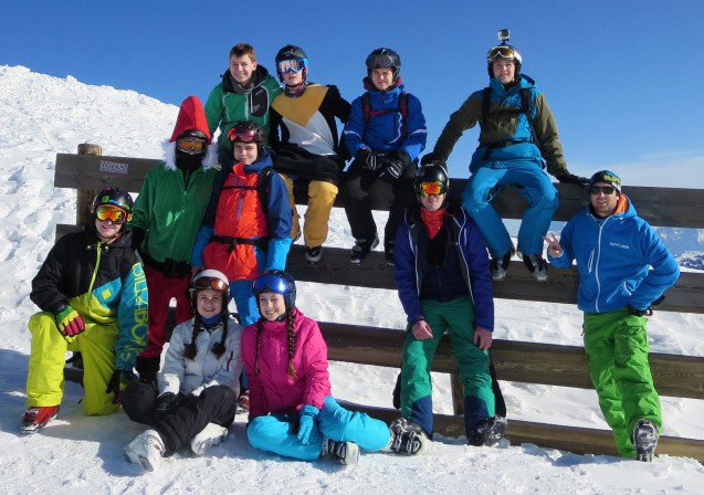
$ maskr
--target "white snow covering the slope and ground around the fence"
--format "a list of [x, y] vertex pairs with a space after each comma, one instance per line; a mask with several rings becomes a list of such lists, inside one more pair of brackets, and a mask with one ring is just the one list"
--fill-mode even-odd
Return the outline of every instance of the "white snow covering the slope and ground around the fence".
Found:
[[[183, 95], [186, 97], [187, 95]], [[165, 459], [155, 473], [128, 464], [123, 446], [144, 426], [123, 412], [86, 418], [82, 389], [66, 383], [57, 420], [32, 436], [19, 433], [24, 410], [30, 335], [36, 312], [30, 282], [54, 241], [56, 223], [75, 221], [76, 193], [53, 188], [56, 152], [81, 143], [111, 156], [161, 157], [178, 113], [130, 91], [88, 86], [21, 66], [0, 66], [0, 491], [7, 494], [82, 493], [702, 493], [704, 466], [660, 456], [652, 464], [607, 455], [576, 455], [532, 444], [470, 447], [435, 435], [421, 457], [364, 454], [358, 466], [305, 463], [255, 451], [238, 418], [225, 443], [200, 459]], [[655, 185], [652, 185], [655, 186]], [[378, 214], [382, 221], [383, 214]], [[330, 245], [350, 245], [343, 211], [335, 210]], [[301, 283], [298, 306], [322, 320], [403, 327], [392, 291]], [[580, 313], [570, 305], [496, 302], [495, 336], [581, 345]], [[659, 312], [651, 319], [656, 352], [704, 356], [704, 316]], [[396, 370], [333, 364], [334, 394], [390, 407]], [[501, 378], [501, 377], [500, 377]], [[451, 413], [449, 378], [433, 377], [435, 411]], [[607, 429], [592, 390], [502, 382], [511, 419]], [[704, 439], [704, 401], [662, 398], [664, 434]]]

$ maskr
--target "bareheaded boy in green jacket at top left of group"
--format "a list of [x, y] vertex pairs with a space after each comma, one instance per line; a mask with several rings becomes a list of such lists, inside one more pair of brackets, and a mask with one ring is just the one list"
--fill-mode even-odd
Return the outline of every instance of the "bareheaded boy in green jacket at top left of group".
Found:
[[251, 44], [238, 43], [230, 50], [230, 67], [206, 101], [210, 135], [214, 136], [216, 129], [220, 129], [218, 161], [222, 166], [233, 162], [228, 136], [235, 124], [254, 122], [264, 129], [264, 136], [269, 136], [269, 108], [280, 93], [279, 81], [256, 62]]

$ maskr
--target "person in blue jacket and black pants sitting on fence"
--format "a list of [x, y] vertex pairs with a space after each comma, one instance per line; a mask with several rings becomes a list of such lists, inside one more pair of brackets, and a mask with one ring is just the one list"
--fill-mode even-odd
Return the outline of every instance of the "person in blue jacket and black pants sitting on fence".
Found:
[[343, 136], [355, 160], [346, 172], [345, 213], [355, 245], [349, 260], [361, 263], [379, 238], [371, 210], [389, 210], [383, 233], [387, 263], [393, 263], [396, 229], [414, 202], [413, 177], [428, 130], [420, 101], [401, 83], [401, 57], [390, 49], [367, 56], [365, 94], [351, 103]]

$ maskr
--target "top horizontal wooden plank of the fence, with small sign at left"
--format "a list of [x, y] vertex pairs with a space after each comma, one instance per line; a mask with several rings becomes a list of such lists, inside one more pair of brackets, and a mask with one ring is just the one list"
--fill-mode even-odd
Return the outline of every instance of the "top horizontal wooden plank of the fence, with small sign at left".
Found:
[[[139, 192], [144, 176], [161, 160], [130, 157], [81, 156], [56, 154], [54, 186], [71, 189], [101, 189], [119, 186]], [[459, 201], [467, 179], [451, 179], [450, 196]], [[555, 221], [567, 221], [588, 201], [587, 192], [575, 185], [556, 183], [560, 206]], [[639, 214], [652, 225], [704, 228], [704, 189], [624, 187]], [[307, 203], [305, 189], [296, 188], [296, 202]], [[513, 188], [502, 190], [493, 202], [505, 219], [523, 218], [526, 201]], [[342, 207], [338, 194], [336, 207]]]

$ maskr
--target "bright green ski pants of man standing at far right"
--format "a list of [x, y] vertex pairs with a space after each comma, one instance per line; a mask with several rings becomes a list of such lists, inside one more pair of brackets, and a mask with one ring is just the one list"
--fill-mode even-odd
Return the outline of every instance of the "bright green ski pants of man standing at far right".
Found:
[[623, 457], [634, 457], [631, 440], [640, 419], [662, 429], [660, 397], [648, 362], [648, 318], [628, 309], [585, 313], [585, 351], [599, 407]]

